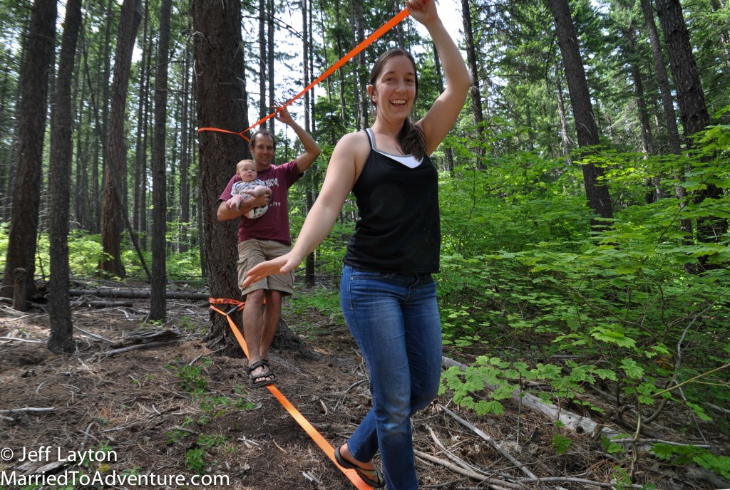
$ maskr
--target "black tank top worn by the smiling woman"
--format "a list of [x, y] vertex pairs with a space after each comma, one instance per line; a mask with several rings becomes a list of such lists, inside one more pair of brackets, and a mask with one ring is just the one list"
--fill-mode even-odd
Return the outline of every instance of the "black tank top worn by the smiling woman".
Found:
[[439, 175], [429, 157], [410, 168], [377, 150], [370, 153], [353, 194], [359, 219], [347, 243], [345, 263], [385, 273], [437, 273], [441, 228]]

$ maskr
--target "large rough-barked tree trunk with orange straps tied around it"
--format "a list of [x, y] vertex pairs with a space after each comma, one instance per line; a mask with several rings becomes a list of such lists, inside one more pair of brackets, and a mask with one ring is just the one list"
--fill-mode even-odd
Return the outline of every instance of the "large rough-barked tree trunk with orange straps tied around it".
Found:
[[[247, 128], [246, 93], [241, 35], [241, 3], [230, 0], [211, 4], [193, 1], [198, 121], [213, 128]], [[261, 75], [264, 76], [263, 74]], [[218, 222], [218, 197], [233, 175], [234, 164], [250, 158], [245, 140], [237, 136], [199, 133], [203, 250], [214, 298], [240, 298], [236, 263], [238, 220]], [[240, 355], [240, 348], [222, 315], [212, 313], [209, 344], [223, 354]]]

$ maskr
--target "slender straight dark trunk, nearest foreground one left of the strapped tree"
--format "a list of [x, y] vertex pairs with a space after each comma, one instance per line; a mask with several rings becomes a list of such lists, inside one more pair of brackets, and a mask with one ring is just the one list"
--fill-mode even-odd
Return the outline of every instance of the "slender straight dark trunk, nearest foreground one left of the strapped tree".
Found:
[[152, 298], [150, 320], [164, 320], [167, 314], [165, 271], [167, 246], [167, 204], [165, 182], [165, 135], [167, 125], [167, 64], [170, 50], [170, 10], [172, 0], [160, 4], [160, 41], [155, 74], [155, 139], [152, 159]]

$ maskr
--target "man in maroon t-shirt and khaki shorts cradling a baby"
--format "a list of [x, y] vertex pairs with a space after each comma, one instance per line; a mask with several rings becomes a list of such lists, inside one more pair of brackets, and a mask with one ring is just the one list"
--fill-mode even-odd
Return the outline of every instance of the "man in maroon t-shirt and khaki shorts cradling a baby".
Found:
[[[239, 287], [246, 272], [254, 265], [280, 257], [291, 249], [288, 190], [321, 152], [317, 141], [293, 120], [286, 108], [277, 108], [276, 119], [294, 130], [304, 145], [304, 153], [291, 162], [272, 165], [274, 136], [268, 131], [258, 131], [253, 135], [250, 148], [258, 179], [271, 190], [269, 209], [259, 218], [245, 217], [251, 209], [266, 205], [266, 195], [247, 201], [239, 208], [226, 205], [226, 201], [231, 198], [233, 184], [241, 180], [238, 175], [231, 178], [226, 190], [220, 195], [218, 221], [240, 219], [237, 263]], [[248, 376], [252, 387], [266, 386], [276, 381], [267, 357], [279, 324], [282, 298], [291, 295], [293, 285], [294, 274], [291, 272], [287, 275], [269, 276], [241, 290], [246, 301], [243, 308], [243, 335], [248, 345]], [[266, 308], [262, 309], [264, 300]]]

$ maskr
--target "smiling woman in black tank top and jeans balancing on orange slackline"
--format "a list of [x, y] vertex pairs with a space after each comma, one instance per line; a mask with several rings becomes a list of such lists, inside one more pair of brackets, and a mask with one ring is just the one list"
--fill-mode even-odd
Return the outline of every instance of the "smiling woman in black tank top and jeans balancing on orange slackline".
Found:
[[[472, 84], [436, 1], [409, 0], [406, 7], [434, 40], [446, 89], [414, 125], [415, 62], [403, 50], [380, 55], [367, 88], [372, 128], [339, 140], [291, 252], [255, 266], [244, 282], [293, 271], [326, 238], [353, 192], [360, 218], [347, 244], [341, 304], [369, 370], [373, 407], [335, 456], [369, 485], [390, 490], [418, 488], [410, 416], [434, 400], [441, 376], [431, 277], [439, 271], [438, 172], [428, 155], [453, 127]], [[372, 463], [378, 449], [384, 477]]]

